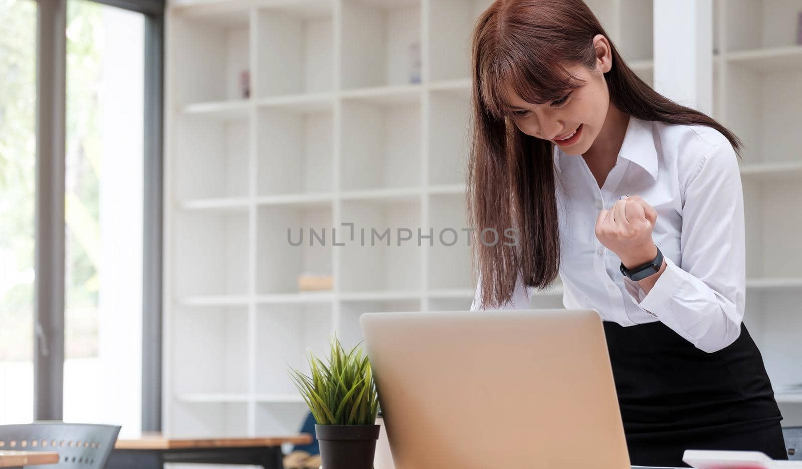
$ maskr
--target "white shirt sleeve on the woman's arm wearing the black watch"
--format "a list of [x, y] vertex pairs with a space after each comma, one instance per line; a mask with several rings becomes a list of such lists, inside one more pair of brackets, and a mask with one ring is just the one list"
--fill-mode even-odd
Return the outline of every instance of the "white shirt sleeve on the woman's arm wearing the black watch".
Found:
[[[712, 353], [739, 337], [746, 297], [743, 189], [731, 144], [717, 144], [687, 184], [681, 266], [666, 269], [648, 294], [624, 277], [638, 307], [700, 350]], [[659, 246], [658, 246], [659, 248]]]

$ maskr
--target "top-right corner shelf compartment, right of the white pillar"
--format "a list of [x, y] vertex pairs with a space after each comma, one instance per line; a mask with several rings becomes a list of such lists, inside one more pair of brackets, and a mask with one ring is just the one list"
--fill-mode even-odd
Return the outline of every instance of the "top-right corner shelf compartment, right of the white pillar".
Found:
[[802, 1], [727, 0], [721, 7], [728, 52], [795, 45]]

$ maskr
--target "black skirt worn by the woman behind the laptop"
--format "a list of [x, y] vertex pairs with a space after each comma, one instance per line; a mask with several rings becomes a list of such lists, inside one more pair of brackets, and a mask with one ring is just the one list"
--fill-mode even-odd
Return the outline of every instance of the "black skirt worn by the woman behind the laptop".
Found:
[[660, 321], [604, 328], [634, 466], [688, 467], [687, 449], [788, 459], [772, 383], [746, 325], [712, 354]]

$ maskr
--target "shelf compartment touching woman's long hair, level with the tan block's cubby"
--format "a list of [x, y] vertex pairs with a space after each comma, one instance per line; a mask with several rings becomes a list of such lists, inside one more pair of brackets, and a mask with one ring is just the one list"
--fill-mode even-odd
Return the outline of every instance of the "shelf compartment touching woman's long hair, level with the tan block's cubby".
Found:
[[[471, 232], [463, 231], [470, 228], [465, 197], [431, 196], [429, 226], [434, 234], [428, 247], [429, 288], [471, 289]], [[498, 241], [504, 241], [504, 233]]]

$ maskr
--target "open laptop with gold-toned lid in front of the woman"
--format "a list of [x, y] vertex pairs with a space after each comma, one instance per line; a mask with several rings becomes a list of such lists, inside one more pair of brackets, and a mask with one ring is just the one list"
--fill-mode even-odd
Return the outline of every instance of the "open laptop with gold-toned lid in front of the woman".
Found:
[[592, 309], [359, 321], [395, 469], [630, 469]]

